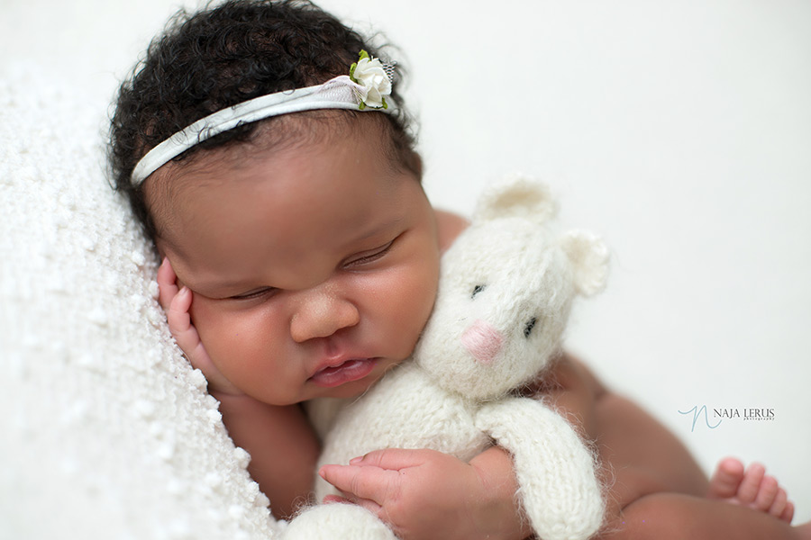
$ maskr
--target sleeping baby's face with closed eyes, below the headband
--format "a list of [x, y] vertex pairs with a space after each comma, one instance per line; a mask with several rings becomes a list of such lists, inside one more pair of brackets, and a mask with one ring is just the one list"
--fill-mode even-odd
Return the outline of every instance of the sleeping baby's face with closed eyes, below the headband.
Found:
[[205, 349], [266, 403], [360, 394], [411, 354], [433, 307], [433, 209], [377, 129], [345, 131], [189, 167], [169, 202], [159, 249], [194, 293]]

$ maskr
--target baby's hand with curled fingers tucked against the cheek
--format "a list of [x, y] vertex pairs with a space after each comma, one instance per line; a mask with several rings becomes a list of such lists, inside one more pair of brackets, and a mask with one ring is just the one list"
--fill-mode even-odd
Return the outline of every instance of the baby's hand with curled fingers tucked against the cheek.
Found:
[[242, 393], [240, 389], [220, 373], [205, 351], [203, 342], [200, 341], [200, 336], [188, 313], [194, 295], [186, 286], [178, 290], [178, 275], [172, 269], [168, 258], [164, 258], [158, 268], [158, 290], [158, 302], [163, 311], [166, 311], [169, 330], [191, 365], [205, 375], [205, 379], [208, 381], [208, 391], [240, 395]]

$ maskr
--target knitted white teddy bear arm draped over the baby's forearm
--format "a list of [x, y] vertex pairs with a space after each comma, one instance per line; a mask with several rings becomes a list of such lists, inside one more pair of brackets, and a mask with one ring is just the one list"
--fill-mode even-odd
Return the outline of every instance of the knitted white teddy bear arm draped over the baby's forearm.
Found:
[[592, 455], [560, 415], [540, 401], [484, 405], [477, 427], [513, 455], [521, 506], [544, 540], [584, 540], [603, 520]]

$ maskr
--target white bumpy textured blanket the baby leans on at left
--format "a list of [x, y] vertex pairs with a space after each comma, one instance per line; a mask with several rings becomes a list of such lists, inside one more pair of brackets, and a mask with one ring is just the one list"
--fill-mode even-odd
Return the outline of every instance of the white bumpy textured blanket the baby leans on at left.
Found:
[[272, 537], [105, 179], [105, 114], [35, 67], [0, 72], [0, 537]]

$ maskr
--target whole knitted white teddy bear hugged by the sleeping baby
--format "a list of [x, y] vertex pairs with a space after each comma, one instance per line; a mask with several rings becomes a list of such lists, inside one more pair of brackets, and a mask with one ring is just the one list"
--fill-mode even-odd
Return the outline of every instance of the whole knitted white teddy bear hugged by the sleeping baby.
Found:
[[[514, 177], [484, 193], [472, 223], [442, 257], [433, 314], [411, 361], [340, 411], [321, 464], [379, 448], [433, 448], [468, 461], [496, 441], [513, 455], [520, 504], [543, 540], [585, 539], [603, 517], [592, 455], [554, 410], [511, 394], [560, 353], [577, 293], [605, 283], [597, 238], [548, 228], [542, 184]], [[318, 479], [316, 497], [335, 492]], [[287, 538], [395, 538], [350, 504], [305, 511]]]

